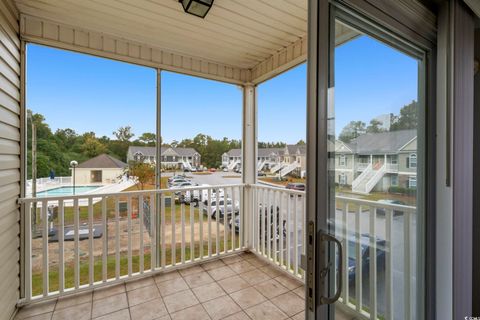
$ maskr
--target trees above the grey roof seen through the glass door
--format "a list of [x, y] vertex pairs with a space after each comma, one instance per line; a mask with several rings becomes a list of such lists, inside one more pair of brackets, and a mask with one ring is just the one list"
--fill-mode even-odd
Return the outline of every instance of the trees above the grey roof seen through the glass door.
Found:
[[366, 133], [380, 133], [388, 131], [398, 131], [407, 129], [416, 129], [418, 122], [418, 103], [412, 101], [400, 109], [400, 114], [390, 115], [390, 127], [385, 128], [378, 119], [370, 120], [367, 125], [363, 121], [350, 121], [340, 132], [338, 139], [343, 142], [350, 142], [353, 139]]

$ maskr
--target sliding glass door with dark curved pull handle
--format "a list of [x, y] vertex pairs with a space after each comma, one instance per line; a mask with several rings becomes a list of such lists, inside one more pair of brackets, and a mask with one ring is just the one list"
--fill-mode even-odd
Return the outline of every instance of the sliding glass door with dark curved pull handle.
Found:
[[348, 8], [330, 19], [317, 319], [424, 319], [424, 52]]

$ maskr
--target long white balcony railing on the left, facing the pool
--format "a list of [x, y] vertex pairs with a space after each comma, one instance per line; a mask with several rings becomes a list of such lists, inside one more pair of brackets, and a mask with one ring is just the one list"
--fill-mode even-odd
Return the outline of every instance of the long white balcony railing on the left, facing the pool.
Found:
[[[243, 220], [238, 219], [244, 214], [239, 201], [243, 188], [237, 184], [21, 199], [26, 218], [24, 301], [243, 249]], [[58, 259], [49, 254], [56, 252]]]

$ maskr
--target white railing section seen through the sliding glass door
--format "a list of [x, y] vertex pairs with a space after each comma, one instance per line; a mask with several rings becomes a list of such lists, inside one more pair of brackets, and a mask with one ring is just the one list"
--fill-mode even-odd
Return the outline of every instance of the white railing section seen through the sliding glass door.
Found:
[[[344, 269], [348, 270], [344, 274], [341, 304], [369, 319], [411, 319], [410, 255], [414, 237], [411, 221], [416, 208], [347, 197], [336, 197], [336, 202], [338, 215], [335, 223], [340, 224], [341, 229], [336, 236], [344, 246]], [[354, 254], [350, 252], [352, 248]], [[394, 252], [394, 248], [397, 251]], [[348, 257], [354, 257], [353, 265]], [[381, 284], [380, 272], [385, 275]], [[368, 287], [364, 280], [368, 281]], [[353, 293], [350, 293], [351, 286], [354, 287]], [[384, 290], [382, 296], [378, 288]], [[399, 296], [402, 293], [403, 297]], [[403, 309], [394, 312], [395, 301], [402, 299]]]

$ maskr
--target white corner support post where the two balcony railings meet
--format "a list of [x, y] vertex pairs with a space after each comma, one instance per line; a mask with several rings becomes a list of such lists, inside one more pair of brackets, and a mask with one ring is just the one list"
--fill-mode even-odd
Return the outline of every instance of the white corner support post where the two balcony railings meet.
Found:
[[[242, 140], [242, 181], [247, 185], [243, 193], [242, 216], [240, 223], [243, 224], [243, 241], [241, 244], [251, 248], [253, 233], [253, 185], [257, 181], [257, 101], [256, 87], [245, 85], [243, 87], [243, 140]], [[243, 219], [242, 219], [243, 218]]]

